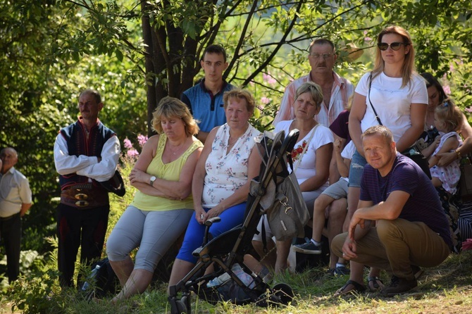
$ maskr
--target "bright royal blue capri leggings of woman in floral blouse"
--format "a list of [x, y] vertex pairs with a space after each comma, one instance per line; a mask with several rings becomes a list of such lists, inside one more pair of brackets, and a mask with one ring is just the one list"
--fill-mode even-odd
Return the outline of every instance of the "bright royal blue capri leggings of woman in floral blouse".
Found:
[[[205, 211], [209, 211], [209, 208], [204, 208]], [[210, 233], [213, 237], [231, 230], [237, 225], [241, 225], [244, 220], [244, 211], [246, 210], [246, 202], [232, 206], [223, 213], [219, 215], [221, 222], [216, 222], [210, 227]], [[192, 264], [196, 264], [198, 258], [192, 256], [192, 252], [195, 249], [199, 248], [203, 243], [203, 238], [205, 234], [205, 225], [200, 225], [195, 219], [195, 212], [190, 218], [189, 226], [187, 227], [187, 232], [185, 232], [184, 242], [182, 247], [177, 255], [177, 258], [180, 260], [185, 260]]]

